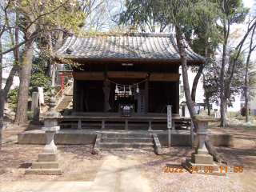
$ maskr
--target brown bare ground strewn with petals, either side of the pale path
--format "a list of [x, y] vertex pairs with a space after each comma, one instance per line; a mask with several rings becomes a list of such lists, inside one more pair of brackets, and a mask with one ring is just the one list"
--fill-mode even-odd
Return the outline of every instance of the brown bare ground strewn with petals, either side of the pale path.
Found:
[[[15, 128], [15, 127], [14, 127]], [[34, 126], [36, 129], [38, 126]], [[4, 138], [10, 137], [22, 129], [8, 128], [3, 131]], [[154, 154], [153, 149], [125, 151], [120, 154], [121, 158], [126, 155], [134, 155], [138, 160], [142, 178], [145, 183], [150, 183], [151, 191], [255, 191], [256, 189], [256, 130], [245, 129], [242, 126], [230, 126], [222, 129], [212, 123], [212, 130], [223, 133], [234, 134], [234, 147], [216, 147], [218, 152], [225, 158], [228, 165], [218, 163], [225, 169], [228, 167], [226, 176], [208, 174], [165, 173], [165, 166], [181, 166], [186, 158], [194, 150], [190, 147], [174, 146], [167, 148], [163, 146], [163, 155]], [[98, 169], [104, 162], [106, 154], [115, 152], [104, 152], [92, 155], [93, 145], [58, 145], [62, 156], [70, 161], [70, 166], [62, 175], [26, 175], [25, 169], [32, 162], [37, 161], [38, 154], [42, 152], [42, 145], [20, 145], [10, 142], [2, 145], [2, 157], [4, 166], [0, 168], [0, 182], [10, 181], [94, 181]], [[242, 166], [242, 173], [234, 173], [234, 166]], [[230, 168], [231, 167], [231, 168]], [[178, 171], [180, 168], [178, 169]], [[230, 171], [232, 171], [230, 173]]]

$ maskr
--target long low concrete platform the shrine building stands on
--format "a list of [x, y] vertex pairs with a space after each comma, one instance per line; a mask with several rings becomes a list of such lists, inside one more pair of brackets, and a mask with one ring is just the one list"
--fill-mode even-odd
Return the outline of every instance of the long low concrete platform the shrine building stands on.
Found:
[[[190, 130], [171, 130], [171, 146], [190, 146]], [[167, 130], [58, 130], [54, 136], [55, 144], [85, 145], [94, 144], [97, 134], [157, 134], [161, 146], [168, 146]], [[234, 146], [232, 134], [211, 131], [208, 135], [214, 146]], [[42, 130], [29, 130], [18, 134], [20, 144], [46, 144], [46, 134]], [[194, 146], [198, 139], [194, 135]]]

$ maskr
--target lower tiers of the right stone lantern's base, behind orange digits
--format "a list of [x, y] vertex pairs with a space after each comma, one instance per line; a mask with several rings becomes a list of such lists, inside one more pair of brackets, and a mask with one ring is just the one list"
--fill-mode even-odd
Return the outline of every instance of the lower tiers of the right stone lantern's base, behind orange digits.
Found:
[[194, 163], [191, 159], [187, 158], [186, 162], [182, 162], [182, 166], [186, 170], [190, 171], [191, 174], [213, 174], [218, 176], [226, 176], [226, 173], [221, 172], [219, 166], [214, 162], [212, 164]]

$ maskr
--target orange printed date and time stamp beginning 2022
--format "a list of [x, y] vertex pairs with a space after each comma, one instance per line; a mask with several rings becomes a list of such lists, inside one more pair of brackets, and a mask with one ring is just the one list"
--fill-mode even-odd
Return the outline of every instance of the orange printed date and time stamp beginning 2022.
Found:
[[[242, 166], [219, 166], [220, 172], [222, 173], [242, 173]], [[212, 173], [214, 171], [213, 166], [204, 166], [203, 170], [198, 170], [198, 166], [190, 166], [190, 170], [186, 170], [183, 166], [165, 166], [165, 173], [184, 173], [184, 172], [202, 172]]]

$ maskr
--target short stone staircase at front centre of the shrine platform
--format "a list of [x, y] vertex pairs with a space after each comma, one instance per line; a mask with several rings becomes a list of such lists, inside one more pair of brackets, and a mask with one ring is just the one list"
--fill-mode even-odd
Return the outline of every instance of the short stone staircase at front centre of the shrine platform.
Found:
[[152, 134], [102, 134], [100, 150], [133, 150], [154, 147]]

